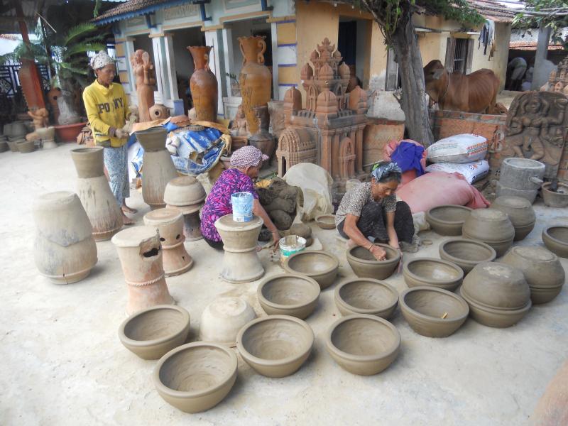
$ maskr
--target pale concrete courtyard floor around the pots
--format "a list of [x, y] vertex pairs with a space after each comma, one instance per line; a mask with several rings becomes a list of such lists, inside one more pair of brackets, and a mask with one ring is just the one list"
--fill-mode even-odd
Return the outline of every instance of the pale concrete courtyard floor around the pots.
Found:
[[[533, 307], [515, 327], [492, 329], [473, 320], [447, 339], [415, 334], [397, 311], [398, 359], [376, 376], [339, 368], [324, 347], [324, 334], [339, 317], [334, 287], [324, 290], [307, 319], [315, 347], [293, 376], [266, 378], [239, 359], [236, 384], [217, 407], [189, 415], [154, 390], [155, 361], [124, 349], [117, 337], [125, 318], [126, 288], [116, 250], [97, 244], [99, 263], [86, 280], [54, 285], [41, 277], [32, 256], [34, 198], [74, 190], [75, 169], [67, 144], [50, 151], [0, 154], [3, 195], [0, 249], [1, 425], [524, 425], [566, 357], [568, 291]], [[141, 224], [148, 206], [133, 192]], [[567, 223], [566, 210], [535, 205], [538, 221], [520, 244], [542, 244], [545, 224]], [[354, 277], [335, 231], [312, 226], [324, 249], [341, 261], [340, 280]], [[442, 238], [422, 233], [431, 246], [415, 256], [435, 256]], [[193, 269], [168, 278], [170, 293], [190, 311], [190, 340], [202, 310], [219, 295], [239, 295], [264, 315], [258, 282], [231, 285], [218, 278], [221, 254], [203, 241], [186, 244]], [[266, 275], [282, 271], [261, 252]], [[562, 259], [564, 268], [568, 260]], [[387, 280], [406, 288], [401, 274]]]

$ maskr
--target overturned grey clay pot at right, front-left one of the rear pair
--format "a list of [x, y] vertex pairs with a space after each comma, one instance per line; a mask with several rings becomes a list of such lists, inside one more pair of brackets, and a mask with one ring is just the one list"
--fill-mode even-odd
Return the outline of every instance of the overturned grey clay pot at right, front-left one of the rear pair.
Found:
[[462, 234], [464, 238], [483, 241], [501, 257], [513, 244], [515, 228], [501, 210], [476, 209], [464, 222]]

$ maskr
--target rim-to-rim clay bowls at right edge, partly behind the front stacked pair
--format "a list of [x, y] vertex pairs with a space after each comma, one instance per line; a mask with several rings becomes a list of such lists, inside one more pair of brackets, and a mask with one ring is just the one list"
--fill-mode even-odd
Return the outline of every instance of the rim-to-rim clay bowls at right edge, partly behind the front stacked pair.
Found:
[[540, 246], [516, 246], [501, 263], [520, 269], [530, 288], [533, 305], [550, 302], [562, 290], [566, 274], [558, 256]]

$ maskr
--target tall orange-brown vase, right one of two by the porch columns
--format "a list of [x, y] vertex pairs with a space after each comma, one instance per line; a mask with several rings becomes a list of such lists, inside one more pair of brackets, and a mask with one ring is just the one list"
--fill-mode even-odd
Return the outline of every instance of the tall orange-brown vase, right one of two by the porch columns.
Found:
[[271, 100], [272, 75], [264, 65], [266, 41], [264, 36], [239, 37], [243, 53], [243, 67], [239, 75], [243, 110], [249, 132], [258, 131], [258, 119], [254, 107], [261, 107]]

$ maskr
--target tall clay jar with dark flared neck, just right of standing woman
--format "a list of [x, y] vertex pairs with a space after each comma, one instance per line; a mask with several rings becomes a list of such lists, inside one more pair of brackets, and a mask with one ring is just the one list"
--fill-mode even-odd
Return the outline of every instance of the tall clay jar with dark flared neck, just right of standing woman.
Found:
[[142, 148], [142, 197], [152, 209], [165, 207], [165, 185], [178, 176], [173, 160], [165, 149], [168, 131], [163, 127], [152, 127], [134, 133]]

